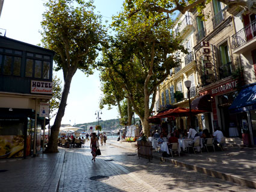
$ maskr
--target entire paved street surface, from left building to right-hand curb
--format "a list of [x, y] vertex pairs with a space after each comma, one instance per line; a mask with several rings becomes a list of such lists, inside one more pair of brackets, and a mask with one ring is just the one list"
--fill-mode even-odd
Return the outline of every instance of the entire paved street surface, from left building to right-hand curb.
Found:
[[[7, 170], [0, 173], [1, 188], [55, 191], [60, 179], [58, 191], [256, 191], [158, 159], [149, 163], [113, 145], [102, 146], [101, 152], [94, 163], [87, 143], [82, 148], [0, 163], [0, 170]], [[106, 178], [92, 180], [95, 176]]]

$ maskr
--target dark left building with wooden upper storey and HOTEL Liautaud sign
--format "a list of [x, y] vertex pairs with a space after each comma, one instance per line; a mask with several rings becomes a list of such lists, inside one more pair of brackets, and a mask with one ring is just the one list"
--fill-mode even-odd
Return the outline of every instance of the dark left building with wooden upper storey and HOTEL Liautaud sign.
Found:
[[53, 57], [48, 49], [0, 36], [1, 158], [39, 152], [52, 98]]

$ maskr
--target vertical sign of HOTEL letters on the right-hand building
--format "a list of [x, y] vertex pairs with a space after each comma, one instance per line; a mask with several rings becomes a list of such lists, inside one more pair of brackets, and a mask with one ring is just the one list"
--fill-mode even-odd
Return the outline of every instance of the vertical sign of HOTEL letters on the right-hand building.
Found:
[[211, 55], [210, 55], [210, 43], [209, 42], [201, 42], [202, 46], [202, 56], [204, 61], [204, 69], [205, 69], [205, 75], [208, 76], [206, 79], [206, 82], [212, 82], [213, 80], [213, 64], [211, 64]]

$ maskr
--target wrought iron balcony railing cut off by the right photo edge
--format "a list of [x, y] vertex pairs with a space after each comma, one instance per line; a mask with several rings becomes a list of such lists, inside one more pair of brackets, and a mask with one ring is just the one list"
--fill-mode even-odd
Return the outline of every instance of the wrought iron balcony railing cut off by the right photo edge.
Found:
[[232, 36], [231, 48], [237, 49], [256, 37], [256, 20]]

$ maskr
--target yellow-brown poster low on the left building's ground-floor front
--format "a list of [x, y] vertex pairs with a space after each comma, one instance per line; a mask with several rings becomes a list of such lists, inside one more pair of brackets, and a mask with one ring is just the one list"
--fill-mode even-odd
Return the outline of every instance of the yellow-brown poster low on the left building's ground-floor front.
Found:
[[0, 158], [22, 157], [23, 135], [0, 135]]

